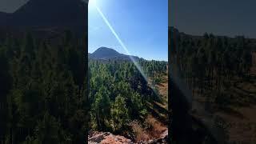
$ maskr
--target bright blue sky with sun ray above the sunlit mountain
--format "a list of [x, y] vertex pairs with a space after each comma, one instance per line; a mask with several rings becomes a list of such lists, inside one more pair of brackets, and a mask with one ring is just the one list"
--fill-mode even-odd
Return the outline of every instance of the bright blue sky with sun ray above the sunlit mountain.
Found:
[[168, 59], [168, 0], [96, 0], [89, 2], [90, 53], [106, 46], [127, 54], [103, 21], [106, 16], [130, 54], [148, 60]]

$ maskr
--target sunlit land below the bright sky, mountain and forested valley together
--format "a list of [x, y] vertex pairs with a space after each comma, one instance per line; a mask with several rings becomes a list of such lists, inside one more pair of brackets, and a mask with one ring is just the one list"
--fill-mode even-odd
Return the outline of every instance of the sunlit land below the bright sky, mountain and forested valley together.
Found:
[[162, 136], [168, 131], [167, 62], [136, 57], [145, 79], [129, 57], [109, 48], [90, 54], [91, 131], [123, 135], [131, 142], [167, 137]]

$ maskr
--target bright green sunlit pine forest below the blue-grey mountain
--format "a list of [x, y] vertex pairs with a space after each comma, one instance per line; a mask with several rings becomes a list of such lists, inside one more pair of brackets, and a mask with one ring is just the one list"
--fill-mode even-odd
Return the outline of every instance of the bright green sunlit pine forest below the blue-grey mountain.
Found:
[[156, 88], [162, 75], [167, 74], [167, 62], [142, 58], [137, 62], [146, 78], [130, 60], [90, 59], [91, 130], [136, 137], [135, 123], [135, 128], [146, 127], [150, 114], [147, 103], [167, 103]]

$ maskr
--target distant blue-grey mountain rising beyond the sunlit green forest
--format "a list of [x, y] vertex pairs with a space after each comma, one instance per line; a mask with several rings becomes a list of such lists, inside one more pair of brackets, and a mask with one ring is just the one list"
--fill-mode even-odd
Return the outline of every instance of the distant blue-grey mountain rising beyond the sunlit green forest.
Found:
[[132, 55], [120, 54], [118, 51], [107, 48], [107, 47], [100, 47], [94, 51], [94, 53], [88, 55], [91, 59], [118, 59], [118, 60], [130, 60], [130, 57], [134, 58], [134, 60], [138, 60], [139, 58]]

